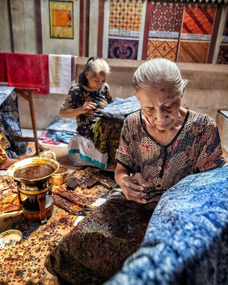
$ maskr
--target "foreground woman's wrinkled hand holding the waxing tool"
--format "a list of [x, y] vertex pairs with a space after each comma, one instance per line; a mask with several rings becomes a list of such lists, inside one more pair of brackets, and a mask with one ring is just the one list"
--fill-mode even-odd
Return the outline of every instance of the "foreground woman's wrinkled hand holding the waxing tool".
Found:
[[139, 203], [147, 203], [144, 197], [144, 184], [143, 176], [141, 173], [135, 173], [133, 176], [126, 176], [122, 179], [121, 189], [126, 196], [127, 200], [137, 200]]

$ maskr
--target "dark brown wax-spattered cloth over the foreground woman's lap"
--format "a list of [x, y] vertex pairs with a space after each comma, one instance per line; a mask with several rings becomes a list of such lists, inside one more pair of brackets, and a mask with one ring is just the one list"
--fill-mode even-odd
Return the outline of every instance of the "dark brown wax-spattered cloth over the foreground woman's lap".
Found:
[[[147, 204], [128, 201], [113, 189], [107, 201], [81, 221], [47, 256], [47, 270], [60, 284], [103, 284], [140, 246], [164, 191]], [[148, 196], [149, 199], [149, 196]]]

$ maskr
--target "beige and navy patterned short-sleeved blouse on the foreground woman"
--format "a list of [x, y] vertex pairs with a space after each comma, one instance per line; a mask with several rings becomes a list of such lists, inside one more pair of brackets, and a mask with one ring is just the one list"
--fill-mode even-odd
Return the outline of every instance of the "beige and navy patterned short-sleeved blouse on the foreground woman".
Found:
[[222, 166], [221, 141], [215, 121], [208, 115], [187, 111], [181, 129], [166, 146], [157, 143], [143, 125], [141, 111], [124, 121], [116, 161], [146, 186], [170, 188], [189, 174]]

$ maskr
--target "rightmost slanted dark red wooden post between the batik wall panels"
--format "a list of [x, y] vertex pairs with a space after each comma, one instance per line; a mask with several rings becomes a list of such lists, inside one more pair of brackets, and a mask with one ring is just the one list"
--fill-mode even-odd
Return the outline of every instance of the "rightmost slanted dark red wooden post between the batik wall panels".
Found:
[[213, 60], [213, 54], [214, 54], [214, 50], [215, 50], [215, 45], [216, 45], [218, 29], [219, 29], [219, 24], [220, 24], [220, 20], [221, 20], [223, 7], [224, 7], [224, 4], [219, 3], [217, 8], [216, 8], [216, 13], [215, 13], [212, 32], [211, 32], [211, 40], [210, 40], [210, 45], [209, 45], [209, 49], [208, 49], [208, 56], [207, 56], [206, 63], [212, 63], [212, 60]]

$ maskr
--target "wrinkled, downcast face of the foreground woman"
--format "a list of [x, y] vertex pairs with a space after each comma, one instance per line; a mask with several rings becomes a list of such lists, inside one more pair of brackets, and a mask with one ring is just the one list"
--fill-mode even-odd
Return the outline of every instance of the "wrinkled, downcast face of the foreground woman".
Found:
[[168, 85], [139, 89], [138, 99], [148, 122], [161, 131], [171, 129], [178, 121], [181, 95]]

